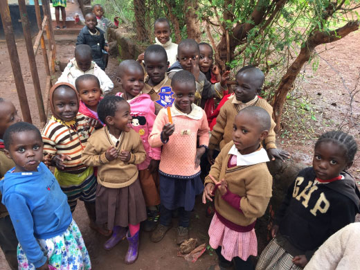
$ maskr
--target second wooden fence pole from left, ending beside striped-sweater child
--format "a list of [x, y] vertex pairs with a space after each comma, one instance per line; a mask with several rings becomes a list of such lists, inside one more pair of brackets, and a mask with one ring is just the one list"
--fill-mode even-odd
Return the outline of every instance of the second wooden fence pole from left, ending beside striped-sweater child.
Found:
[[39, 110], [40, 122], [42, 123], [42, 125], [43, 124], [45, 125], [46, 115], [44, 109], [44, 102], [42, 100], [42, 89], [40, 88], [39, 74], [37, 73], [36, 59], [33, 49], [33, 42], [31, 41], [30, 23], [28, 20], [28, 11], [26, 10], [25, 0], [19, 0], [19, 10], [20, 10], [21, 24], [23, 26], [26, 51], [28, 51], [31, 77], [33, 78], [37, 109]]

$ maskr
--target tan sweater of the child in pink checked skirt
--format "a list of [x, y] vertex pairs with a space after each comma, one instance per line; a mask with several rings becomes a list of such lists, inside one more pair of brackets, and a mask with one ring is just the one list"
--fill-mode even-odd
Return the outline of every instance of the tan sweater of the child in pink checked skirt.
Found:
[[[209, 174], [217, 181], [226, 179], [228, 190], [242, 197], [242, 212], [224, 201], [219, 190], [215, 191], [215, 209], [228, 221], [240, 226], [249, 226], [264, 215], [271, 198], [273, 178], [266, 163], [228, 168], [228, 159], [231, 156], [228, 151], [233, 144], [231, 141], [222, 148]], [[207, 183], [213, 183], [209, 176], [205, 179], [205, 185]]]

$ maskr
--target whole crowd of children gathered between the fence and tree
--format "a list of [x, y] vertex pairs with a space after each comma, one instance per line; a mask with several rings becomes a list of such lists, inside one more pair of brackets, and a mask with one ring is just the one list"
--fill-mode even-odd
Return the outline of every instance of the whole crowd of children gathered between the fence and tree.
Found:
[[[88, 32], [102, 36], [93, 16], [85, 19]], [[266, 163], [289, 157], [276, 148], [272, 108], [258, 96], [264, 74], [246, 66], [236, 74], [233, 94], [224, 93], [228, 72], [220, 75], [213, 66], [210, 45], [184, 39], [169, 67], [170, 24], [158, 19], [154, 28], [160, 44], [148, 46], [138, 61], [120, 63], [116, 73], [123, 91], [116, 95], [102, 95], [113, 84], [100, 64], [91, 62], [93, 50], [78, 45], [49, 93], [52, 116], [41, 133], [19, 122], [14, 105], [0, 99], [1, 202], [11, 219], [1, 209], [0, 226], [9, 232], [12, 250], [6, 250], [3, 235], [0, 244], [14, 269], [17, 262], [19, 269], [91, 269], [71, 217], [78, 199], [84, 201], [89, 226], [110, 236], [104, 249], [127, 239], [125, 263], [132, 264], [141, 227], [159, 242], [177, 214], [177, 244], [189, 238], [191, 211], [201, 194], [204, 204], [215, 204], [208, 234], [219, 264], [210, 269], [234, 264], [253, 269], [255, 222], [272, 192]], [[156, 102], [163, 91], [175, 98], [171, 122], [169, 110]], [[223, 100], [210, 132], [216, 111], [203, 108], [214, 98]], [[256, 269], [303, 269], [330, 235], [354, 222], [360, 195], [345, 170], [356, 152], [354, 138], [343, 132], [318, 138], [313, 165], [289, 187], [271, 229], [273, 240]], [[212, 166], [203, 181], [204, 155]]]

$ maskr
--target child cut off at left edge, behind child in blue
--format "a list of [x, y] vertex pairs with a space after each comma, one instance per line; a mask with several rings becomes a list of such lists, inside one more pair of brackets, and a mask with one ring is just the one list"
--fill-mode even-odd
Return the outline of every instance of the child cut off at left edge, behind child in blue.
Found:
[[[10, 125], [19, 121], [21, 121], [21, 118], [17, 115], [17, 109], [15, 109], [12, 102], [0, 98], [0, 179], [15, 166], [14, 161], [6, 157], [3, 134]], [[0, 201], [1, 199], [0, 193]], [[0, 247], [12, 270], [17, 270], [17, 243], [8, 210], [3, 204], [0, 204]]]

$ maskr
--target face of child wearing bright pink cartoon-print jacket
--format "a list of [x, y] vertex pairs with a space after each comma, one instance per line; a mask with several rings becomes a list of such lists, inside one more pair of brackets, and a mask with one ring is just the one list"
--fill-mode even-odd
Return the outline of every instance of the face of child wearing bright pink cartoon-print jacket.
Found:
[[123, 87], [127, 97], [134, 98], [144, 88], [144, 71], [143, 69], [130, 68], [124, 71], [118, 78], [120, 85]]

